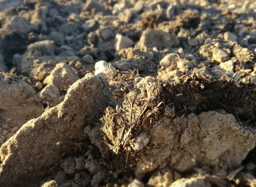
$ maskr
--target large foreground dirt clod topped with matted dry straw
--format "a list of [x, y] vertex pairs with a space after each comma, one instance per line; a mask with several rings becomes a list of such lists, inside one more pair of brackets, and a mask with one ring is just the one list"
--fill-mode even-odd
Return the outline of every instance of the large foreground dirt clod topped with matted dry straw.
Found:
[[114, 153], [136, 158], [131, 162], [137, 177], [167, 165], [179, 172], [221, 163], [239, 167], [255, 147], [256, 137], [255, 127], [240, 120], [247, 115], [254, 123], [255, 116], [231, 105], [239, 101], [254, 110], [256, 103], [249, 107], [249, 100], [255, 93], [229, 95], [230, 102], [227, 93], [214, 89], [237, 93], [244, 86], [254, 88], [197, 76], [177, 78], [177, 83], [149, 82], [126, 94], [121, 107], [107, 108], [102, 118], [105, 141]]

